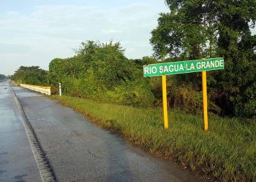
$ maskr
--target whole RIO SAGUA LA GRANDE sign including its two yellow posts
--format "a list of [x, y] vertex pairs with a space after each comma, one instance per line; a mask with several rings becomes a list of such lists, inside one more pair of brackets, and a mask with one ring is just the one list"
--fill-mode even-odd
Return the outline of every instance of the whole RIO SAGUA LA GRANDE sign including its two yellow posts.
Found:
[[202, 72], [202, 93], [203, 93], [203, 121], [204, 130], [208, 131], [208, 103], [207, 103], [207, 84], [206, 71], [224, 69], [223, 58], [211, 58], [203, 60], [187, 60], [171, 63], [159, 63], [143, 66], [144, 77], [162, 76], [162, 106], [164, 115], [164, 127], [168, 128], [167, 117], [167, 92], [166, 75], [187, 74], [192, 72]]

